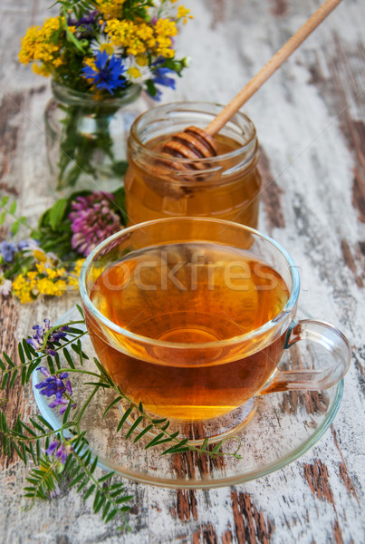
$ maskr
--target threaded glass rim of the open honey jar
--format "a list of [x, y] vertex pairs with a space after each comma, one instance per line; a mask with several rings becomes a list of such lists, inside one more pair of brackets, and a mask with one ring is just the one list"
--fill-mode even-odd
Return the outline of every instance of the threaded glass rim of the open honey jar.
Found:
[[[205, 112], [203, 110], [204, 107], [207, 107], [207, 106], [214, 106], [217, 108], [217, 111], [216, 113], [220, 112], [221, 110], [223, 110], [224, 108], [224, 105], [218, 103], [218, 102], [204, 102], [204, 101], [179, 101], [179, 102], [168, 102], [166, 104], [160, 104], [158, 106], [155, 106], [154, 108], [150, 108], [149, 110], [147, 110], [146, 112], [142, 112], [139, 114], [139, 116], [132, 122], [131, 126], [130, 126], [130, 138], [129, 140], [133, 139], [133, 141], [135, 141], [135, 144], [137, 145], [137, 147], [139, 148], [142, 148], [143, 151], [149, 156], [150, 160], [158, 160], [161, 158], [161, 153], [159, 151], [154, 151], [154, 150], [151, 150], [149, 149], [147, 146], [146, 146], [146, 143], [144, 141], [141, 141], [140, 138], [139, 138], [139, 124], [140, 122], [146, 117], [146, 115], [150, 115], [151, 113], [157, 113], [157, 112], [168, 112], [169, 110], [172, 110], [174, 112], [183, 112], [184, 110], [182, 110], [182, 108], [187, 108], [187, 112], [188, 112], [188, 108], [193, 108], [194, 106], [194, 109], [191, 110], [192, 113], [194, 112], [199, 112], [199, 113], [207, 113], [207, 114], [210, 114], [210, 112]], [[197, 110], [199, 109], [199, 110]], [[211, 113], [211, 116], [212, 116], [212, 120], [214, 119], [215, 117], [215, 113]], [[217, 155], [216, 157], [207, 157], [207, 158], [197, 158], [197, 159], [192, 159], [192, 158], [185, 158], [185, 157], [174, 157], [174, 161], [176, 161], [178, 164], [181, 163], [181, 164], [187, 164], [187, 163], [193, 163], [194, 162], [199, 162], [199, 164], [206, 164], [207, 165], [207, 170], [211, 170], [211, 166], [209, 168], [209, 165], [211, 165], [212, 163], [214, 164], [216, 161], [222, 161], [222, 160], [230, 160], [230, 159], [234, 159], [235, 157], [239, 156], [240, 154], [243, 153], [243, 151], [245, 151], [246, 149], [248, 149], [248, 147], [250, 145], [253, 144], [253, 142], [256, 141], [256, 138], [257, 138], [257, 133], [256, 133], [256, 128], [255, 128], [255, 124], [254, 124], [254, 121], [252, 121], [248, 115], [246, 115], [244, 112], [235, 112], [235, 115], [233, 117], [233, 120], [234, 119], [237, 119], [238, 121], [241, 121], [241, 122], [245, 122], [247, 124], [247, 129], [249, 130], [249, 133], [248, 133], [248, 136], [247, 136], [247, 140], [245, 141], [244, 144], [242, 144], [242, 146], [234, 151], [228, 151], [226, 153], [222, 153], [222, 154], [219, 154]], [[158, 119], [158, 121], [160, 121], [160, 119]], [[232, 121], [232, 120], [231, 120]], [[238, 123], [236, 123], [238, 124]], [[238, 125], [239, 126], [239, 125]], [[257, 144], [255, 146], [255, 151], [257, 148]], [[164, 157], [165, 155], [162, 153], [162, 157]]]

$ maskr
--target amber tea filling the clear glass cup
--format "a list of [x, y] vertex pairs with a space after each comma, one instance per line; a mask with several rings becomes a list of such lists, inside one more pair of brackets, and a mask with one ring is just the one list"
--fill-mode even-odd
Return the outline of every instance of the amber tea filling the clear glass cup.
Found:
[[197, 241], [132, 251], [101, 273], [90, 297], [112, 323], [156, 341], [142, 346], [86, 314], [114, 383], [172, 420], [233, 411], [260, 391], [283, 350], [283, 335], [271, 344], [246, 337], [289, 297], [283, 277], [247, 250]]

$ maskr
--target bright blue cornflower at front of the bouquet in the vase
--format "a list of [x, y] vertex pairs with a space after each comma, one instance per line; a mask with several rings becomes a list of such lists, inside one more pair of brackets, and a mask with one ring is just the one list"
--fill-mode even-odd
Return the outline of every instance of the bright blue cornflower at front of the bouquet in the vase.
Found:
[[114, 54], [98, 51], [95, 57], [95, 68], [84, 66], [82, 75], [91, 80], [98, 89], [106, 89], [113, 94], [114, 89], [126, 86], [126, 79], [121, 74], [126, 71], [124, 64]]

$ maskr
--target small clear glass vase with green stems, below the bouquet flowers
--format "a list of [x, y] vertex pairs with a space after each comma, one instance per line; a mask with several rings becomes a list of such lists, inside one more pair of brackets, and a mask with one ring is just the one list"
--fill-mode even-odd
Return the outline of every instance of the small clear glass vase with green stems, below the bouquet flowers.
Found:
[[141, 87], [102, 100], [55, 81], [52, 91], [44, 112], [51, 192], [59, 198], [84, 189], [119, 189], [130, 125], [147, 107], [139, 98]]

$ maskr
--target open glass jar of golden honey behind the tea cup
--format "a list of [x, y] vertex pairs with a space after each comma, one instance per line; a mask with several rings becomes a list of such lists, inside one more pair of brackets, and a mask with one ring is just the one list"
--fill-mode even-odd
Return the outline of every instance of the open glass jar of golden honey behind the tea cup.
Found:
[[168, 217], [210, 217], [257, 228], [258, 141], [244, 113], [237, 112], [214, 136], [215, 157], [168, 158], [160, 151], [178, 131], [191, 125], [207, 127], [222, 108], [210, 102], [174, 102], [144, 112], [133, 122], [124, 180], [129, 225]]

